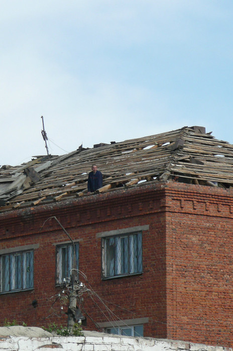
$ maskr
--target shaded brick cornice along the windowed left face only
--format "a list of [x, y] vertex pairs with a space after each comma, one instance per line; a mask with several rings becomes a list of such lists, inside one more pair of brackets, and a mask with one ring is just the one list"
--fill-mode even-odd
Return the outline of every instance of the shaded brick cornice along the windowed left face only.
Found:
[[51, 216], [56, 216], [66, 228], [74, 228], [161, 212], [165, 210], [164, 185], [150, 184], [2, 213], [0, 235], [6, 239], [60, 230], [54, 220], [43, 226]]

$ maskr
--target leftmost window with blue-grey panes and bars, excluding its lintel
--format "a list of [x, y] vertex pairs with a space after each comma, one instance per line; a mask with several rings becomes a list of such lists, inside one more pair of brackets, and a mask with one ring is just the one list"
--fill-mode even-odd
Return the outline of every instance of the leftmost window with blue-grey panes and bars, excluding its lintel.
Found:
[[0, 256], [1, 293], [33, 288], [33, 251]]

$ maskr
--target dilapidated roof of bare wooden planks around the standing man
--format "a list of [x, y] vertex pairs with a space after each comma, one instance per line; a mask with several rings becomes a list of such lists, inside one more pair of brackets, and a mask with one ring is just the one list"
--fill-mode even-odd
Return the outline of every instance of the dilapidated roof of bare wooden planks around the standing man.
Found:
[[0, 168], [0, 211], [88, 196], [87, 178], [96, 163], [103, 187], [96, 193], [147, 182], [175, 180], [231, 188], [233, 145], [215, 139], [204, 127], [120, 143], [80, 146], [63, 156], [35, 156], [20, 166]]

